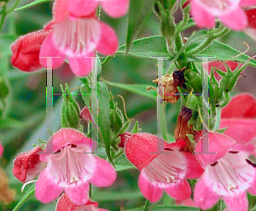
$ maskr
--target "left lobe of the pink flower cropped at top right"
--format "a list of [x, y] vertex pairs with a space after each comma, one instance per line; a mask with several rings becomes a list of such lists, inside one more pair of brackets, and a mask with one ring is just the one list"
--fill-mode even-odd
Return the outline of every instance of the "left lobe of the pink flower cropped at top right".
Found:
[[191, 14], [197, 26], [201, 28], [213, 28], [215, 26], [214, 15], [204, 9], [204, 6], [197, 0], [191, 2]]

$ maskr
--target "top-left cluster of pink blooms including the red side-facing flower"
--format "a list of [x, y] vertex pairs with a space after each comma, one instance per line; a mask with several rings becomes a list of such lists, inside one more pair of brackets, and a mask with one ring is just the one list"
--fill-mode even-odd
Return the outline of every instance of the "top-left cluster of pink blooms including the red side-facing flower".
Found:
[[129, 6], [128, 0], [56, 0], [53, 20], [44, 30], [27, 34], [13, 43], [12, 65], [20, 71], [37, 71], [47, 66], [47, 57], [53, 58], [53, 68], [68, 59], [75, 75], [88, 75], [94, 66], [96, 51], [110, 55], [118, 48], [113, 29], [96, 17], [99, 3], [114, 18], [125, 15]]

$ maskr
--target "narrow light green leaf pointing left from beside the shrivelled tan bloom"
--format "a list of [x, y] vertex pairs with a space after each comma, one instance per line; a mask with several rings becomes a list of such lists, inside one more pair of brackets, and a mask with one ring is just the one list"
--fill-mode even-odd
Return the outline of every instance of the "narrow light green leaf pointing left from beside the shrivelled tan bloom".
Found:
[[109, 86], [113, 86], [116, 88], [124, 88], [127, 91], [143, 95], [145, 97], [151, 98], [156, 100], [157, 93], [154, 91], [148, 91], [147, 88], [150, 87], [148, 84], [125, 84], [125, 83], [113, 83], [113, 82], [108, 82], [104, 80], [104, 83], [107, 83]]

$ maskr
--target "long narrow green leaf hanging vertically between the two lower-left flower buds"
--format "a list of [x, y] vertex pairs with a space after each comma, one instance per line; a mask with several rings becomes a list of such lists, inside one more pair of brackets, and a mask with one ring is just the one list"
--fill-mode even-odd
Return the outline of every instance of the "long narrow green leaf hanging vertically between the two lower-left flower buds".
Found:
[[113, 164], [113, 160], [110, 155], [111, 139], [109, 94], [106, 84], [102, 82], [98, 83], [98, 120], [108, 159]]

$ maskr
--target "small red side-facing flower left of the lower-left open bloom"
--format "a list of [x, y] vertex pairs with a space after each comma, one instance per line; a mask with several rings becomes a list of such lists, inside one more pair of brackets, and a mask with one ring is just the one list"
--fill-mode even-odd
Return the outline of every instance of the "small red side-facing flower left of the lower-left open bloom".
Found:
[[39, 160], [43, 150], [37, 146], [31, 151], [21, 153], [15, 158], [13, 174], [20, 182], [33, 180], [45, 168], [46, 163]]

